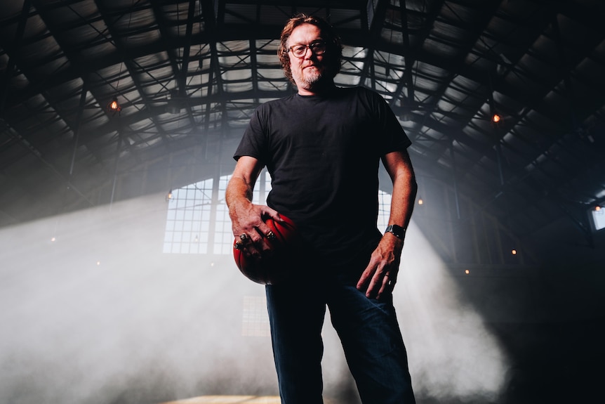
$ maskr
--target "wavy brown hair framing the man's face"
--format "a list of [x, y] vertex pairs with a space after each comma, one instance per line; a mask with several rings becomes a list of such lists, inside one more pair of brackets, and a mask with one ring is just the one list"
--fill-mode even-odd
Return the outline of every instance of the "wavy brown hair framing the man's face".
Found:
[[284, 29], [281, 30], [281, 37], [279, 37], [279, 48], [277, 49], [277, 56], [281, 62], [281, 69], [284, 70], [284, 75], [288, 77], [293, 84], [295, 84], [292, 78], [292, 71], [290, 70], [290, 58], [288, 56], [288, 39], [292, 34], [292, 31], [303, 24], [315, 25], [321, 32], [321, 37], [326, 41], [326, 66], [328, 72], [331, 74], [331, 78], [334, 78], [338, 72], [340, 72], [340, 63], [343, 58], [343, 44], [340, 41], [340, 37], [334, 31], [334, 28], [323, 18], [315, 17], [314, 15], [308, 15], [300, 13], [295, 15], [293, 18], [286, 22]]

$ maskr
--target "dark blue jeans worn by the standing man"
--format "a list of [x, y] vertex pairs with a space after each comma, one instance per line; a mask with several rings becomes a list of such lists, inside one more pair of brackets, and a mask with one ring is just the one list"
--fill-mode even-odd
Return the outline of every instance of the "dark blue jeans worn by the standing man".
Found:
[[281, 403], [323, 403], [326, 306], [362, 403], [415, 403], [392, 296], [368, 299], [355, 287], [361, 271], [342, 272], [328, 270], [304, 282], [266, 287]]

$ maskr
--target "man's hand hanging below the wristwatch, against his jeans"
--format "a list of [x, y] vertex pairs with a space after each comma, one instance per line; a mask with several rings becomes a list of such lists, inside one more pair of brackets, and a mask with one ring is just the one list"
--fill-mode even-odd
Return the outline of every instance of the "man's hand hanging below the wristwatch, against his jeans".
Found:
[[380, 299], [385, 294], [390, 294], [397, 282], [403, 247], [404, 240], [400, 240], [391, 233], [383, 235], [378, 247], [372, 252], [368, 266], [357, 282], [357, 289], [365, 289], [368, 298]]

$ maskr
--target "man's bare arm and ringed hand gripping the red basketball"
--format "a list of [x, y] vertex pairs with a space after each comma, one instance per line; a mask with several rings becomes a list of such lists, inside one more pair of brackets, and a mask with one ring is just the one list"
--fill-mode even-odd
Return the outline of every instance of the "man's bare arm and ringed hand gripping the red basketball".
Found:
[[252, 203], [254, 183], [262, 170], [263, 165], [254, 157], [242, 156], [237, 160], [232, 177], [225, 190], [225, 202], [229, 208], [234, 237], [246, 234], [251, 243], [244, 244], [248, 254], [258, 256], [262, 249], [268, 249], [263, 240], [271, 229], [262, 219], [272, 217], [279, 219], [276, 210], [266, 205]]

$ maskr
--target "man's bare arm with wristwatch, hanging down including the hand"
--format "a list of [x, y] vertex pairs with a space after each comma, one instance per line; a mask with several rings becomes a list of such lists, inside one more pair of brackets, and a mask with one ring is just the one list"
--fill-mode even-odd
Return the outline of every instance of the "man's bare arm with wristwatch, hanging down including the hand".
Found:
[[[389, 224], [407, 228], [418, 189], [410, 157], [406, 150], [391, 152], [383, 157], [383, 164], [393, 181]], [[384, 292], [391, 292], [397, 282], [403, 247], [403, 237], [400, 239], [392, 233], [385, 233], [361, 274], [357, 289], [366, 289], [367, 297], [376, 298]]]

